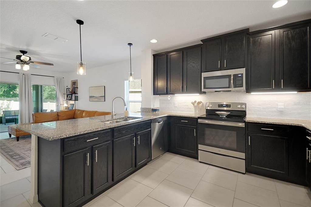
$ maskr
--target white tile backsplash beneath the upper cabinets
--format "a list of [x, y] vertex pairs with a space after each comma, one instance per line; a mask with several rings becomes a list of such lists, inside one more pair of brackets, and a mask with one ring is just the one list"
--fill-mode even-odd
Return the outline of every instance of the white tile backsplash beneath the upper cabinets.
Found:
[[[202, 101], [198, 107], [191, 101]], [[177, 102], [177, 107], [174, 107]], [[197, 96], [160, 96], [160, 110], [205, 113], [205, 102], [245, 102], [248, 116], [311, 119], [311, 92], [296, 94], [207, 93]], [[278, 104], [284, 108], [278, 109]], [[198, 109], [195, 109], [198, 108]], [[283, 109], [283, 110], [282, 110]]]

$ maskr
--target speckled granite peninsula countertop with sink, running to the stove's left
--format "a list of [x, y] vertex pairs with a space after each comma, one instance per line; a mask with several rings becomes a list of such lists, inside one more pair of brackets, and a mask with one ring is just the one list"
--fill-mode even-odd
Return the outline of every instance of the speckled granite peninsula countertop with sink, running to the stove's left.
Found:
[[[67, 119], [62, 121], [44, 122], [38, 124], [19, 124], [17, 128], [47, 140], [55, 140], [79, 134], [95, 132], [103, 129], [114, 128], [126, 124], [147, 121], [159, 117], [182, 116], [182, 117], [197, 118], [200, 115], [203, 114], [166, 112], [166, 111], [160, 111], [160, 113], [158, 114], [152, 112], [139, 112], [139, 113], [129, 113], [130, 117], [141, 117], [139, 119], [114, 124], [100, 122], [101, 120], [106, 121], [111, 120], [111, 115], [106, 115], [106, 116], [95, 116], [81, 119]], [[118, 114], [115, 116], [115, 118], [120, 117], [123, 117], [123, 114]]]

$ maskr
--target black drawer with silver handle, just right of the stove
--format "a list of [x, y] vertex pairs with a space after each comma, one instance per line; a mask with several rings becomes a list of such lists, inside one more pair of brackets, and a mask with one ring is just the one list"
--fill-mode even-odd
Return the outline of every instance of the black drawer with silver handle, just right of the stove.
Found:
[[270, 124], [248, 124], [248, 131], [268, 134], [288, 133], [289, 127]]

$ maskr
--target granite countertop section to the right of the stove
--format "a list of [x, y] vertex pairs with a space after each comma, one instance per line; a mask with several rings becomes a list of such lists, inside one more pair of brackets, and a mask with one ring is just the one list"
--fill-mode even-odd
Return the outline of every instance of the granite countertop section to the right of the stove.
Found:
[[264, 123], [264, 124], [283, 124], [283, 125], [301, 126], [311, 130], [311, 120], [308, 119], [286, 119], [286, 118], [273, 118], [273, 117], [246, 116], [245, 121]]

